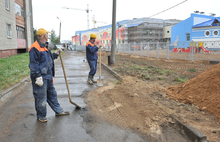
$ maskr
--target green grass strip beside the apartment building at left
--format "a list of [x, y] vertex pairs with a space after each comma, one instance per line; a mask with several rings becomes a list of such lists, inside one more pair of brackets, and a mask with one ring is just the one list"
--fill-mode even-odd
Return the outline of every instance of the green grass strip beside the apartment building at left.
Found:
[[30, 74], [29, 54], [0, 59], [0, 92], [20, 82]]

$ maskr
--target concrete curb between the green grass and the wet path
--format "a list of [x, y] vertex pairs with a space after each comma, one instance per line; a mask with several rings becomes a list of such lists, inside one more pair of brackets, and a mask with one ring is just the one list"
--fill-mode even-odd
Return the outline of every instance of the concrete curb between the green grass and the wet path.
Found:
[[[60, 58], [57, 58], [54, 60], [54, 64], [58, 62]], [[6, 89], [5, 91], [0, 93], [0, 103], [5, 101], [8, 97], [12, 96], [13, 94], [17, 93], [17, 90], [20, 89], [25, 82], [28, 82], [30, 80], [30, 76], [24, 78], [19, 83], [15, 84], [14, 86]]]

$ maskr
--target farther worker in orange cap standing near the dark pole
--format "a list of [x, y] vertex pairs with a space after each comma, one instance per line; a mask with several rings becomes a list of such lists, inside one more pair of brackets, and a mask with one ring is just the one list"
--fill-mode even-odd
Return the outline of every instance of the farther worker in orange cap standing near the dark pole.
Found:
[[94, 76], [95, 76], [96, 70], [97, 70], [97, 59], [98, 59], [97, 51], [99, 50], [101, 45], [99, 45], [97, 47], [95, 45], [95, 40], [96, 40], [96, 35], [91, 34], [90, 35], [90, 40], [86, 44], [86, 59], [89, 63], [89, 67], [90, 67], [90, 72], [89, 72], [87, 82], [90, 85], [93, 85], [94, 83], [97, 83], [97, 81], [94, 80]]

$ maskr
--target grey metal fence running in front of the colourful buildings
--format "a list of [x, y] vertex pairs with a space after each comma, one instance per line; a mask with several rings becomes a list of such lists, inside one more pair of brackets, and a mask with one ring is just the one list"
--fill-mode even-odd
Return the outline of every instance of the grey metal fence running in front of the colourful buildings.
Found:
[[[85, 46], [74, 46], [76, 51], [85, 51]], [[208, 42], [148, 42], [116, 45], [116, 52], [142, 57], [165, 59], [189, 59], [220, 61], [220, 41]], [[102, 47], [111, 51], [111, 44]]]

